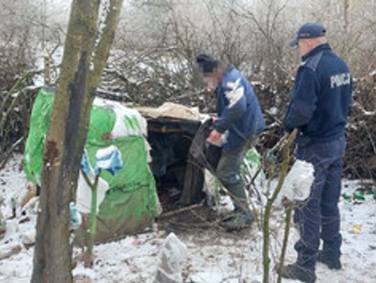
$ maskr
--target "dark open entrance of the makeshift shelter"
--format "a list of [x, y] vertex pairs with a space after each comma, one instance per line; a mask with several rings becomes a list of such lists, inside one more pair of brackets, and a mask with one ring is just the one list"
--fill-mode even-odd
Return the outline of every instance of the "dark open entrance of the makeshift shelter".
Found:
[[203, 198], [203, 169], [191, 163], [189, 147], [201, 126], [199, 121], [175, 118], [148, 119], [150, 169], [164, 211]]

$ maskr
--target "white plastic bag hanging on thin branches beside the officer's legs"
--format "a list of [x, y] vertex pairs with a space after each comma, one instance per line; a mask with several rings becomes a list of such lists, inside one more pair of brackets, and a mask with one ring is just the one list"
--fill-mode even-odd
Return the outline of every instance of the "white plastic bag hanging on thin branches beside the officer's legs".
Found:
[[314, 172], [312, 163], [297, 159], [285, 178], [281, 192], [276, 199], [276, 205], [281, 204], [284, 197], [291, 201], [306, 200], [315, 179]]

